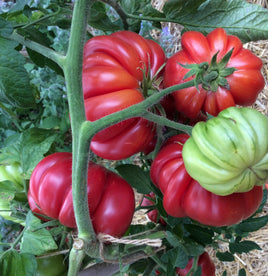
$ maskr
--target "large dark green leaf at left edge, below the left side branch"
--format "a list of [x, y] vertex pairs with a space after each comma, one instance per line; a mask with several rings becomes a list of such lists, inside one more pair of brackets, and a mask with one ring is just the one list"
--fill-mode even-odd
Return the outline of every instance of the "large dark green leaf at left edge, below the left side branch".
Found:
[[14, 42], [0, 37], [0, 101], [15, 107], [33, 107], [35, 97], [24, 68], [25, 58], [14, 47]]

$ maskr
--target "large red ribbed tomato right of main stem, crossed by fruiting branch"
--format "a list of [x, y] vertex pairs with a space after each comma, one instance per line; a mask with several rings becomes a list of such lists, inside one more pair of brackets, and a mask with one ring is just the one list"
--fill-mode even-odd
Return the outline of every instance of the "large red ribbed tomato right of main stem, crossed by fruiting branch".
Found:
[[[88, 40], [82, 75], [87, 120], [96, 121], [142, 102], [147, 93], [145, 76], [150, 86], [164, 62], [165, 53], [155, 41], [131, 31]], [[147, 152], [154, 136], [153, 123], [132, 118], [97, 133], [90, 147], [102, 158], [121, 160]]]

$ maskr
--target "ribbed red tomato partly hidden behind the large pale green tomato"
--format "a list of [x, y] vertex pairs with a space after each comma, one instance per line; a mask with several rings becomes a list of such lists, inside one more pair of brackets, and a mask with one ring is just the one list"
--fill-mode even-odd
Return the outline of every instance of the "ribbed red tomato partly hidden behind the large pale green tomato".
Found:
[[[185, 169], [182, 150], [188, 139], [187, 134], [171, 137], [151, 166], [151, 179], [163, 193], [166, 212], [211, 226], [233, 225], [253, 215], [262, 201], [262, 187], [228, 196], [205, 190]], [[194, 162], [201, 161], [194, 159]]]

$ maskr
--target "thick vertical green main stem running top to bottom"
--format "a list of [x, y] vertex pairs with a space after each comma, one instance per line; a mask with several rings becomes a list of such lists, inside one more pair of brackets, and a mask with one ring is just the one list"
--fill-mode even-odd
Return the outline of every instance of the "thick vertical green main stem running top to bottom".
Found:
[[89, 244], [96, 240], [87, 202], [87, 171], [91, 137], [85, 137], [82, 131], [83, 122], [86, 121], [82, 90], [83, 46], [88, 11], [92, 2], [90, 0], [75, 2], [69, 47], [63, 63], [73, 139], [72, 193], [78, 229], [78, 240], [70, 253], [68, 275], [72, 276], [78, 274]]

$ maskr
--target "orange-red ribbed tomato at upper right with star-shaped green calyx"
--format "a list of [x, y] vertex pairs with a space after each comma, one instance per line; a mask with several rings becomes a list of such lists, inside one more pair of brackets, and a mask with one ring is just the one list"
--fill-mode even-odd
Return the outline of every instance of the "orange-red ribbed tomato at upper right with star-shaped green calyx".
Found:
[[[176, 108], [189, 118], [195, 118], [200, 110], [216, 116], [230, 106], [252, 105], [265, 85], [261, 74], [262, 61], [248, 49], [236, 36], [227, 35], [225, 30], [217, 28], [204, 36], [200, 32], [188, 31], [181, 38], [182, 50], [170, 57], [165, 66], [164, 87], [170, 87], [191, 80], [184, 79], [189, 68], [181, 65], [210, 64], [208, 72], [217, 74], [209, 87], [199, 85], [181, 89], [172, 93]], [[220, 60], [233, 49], [232, 55], [223, 68]], [[218, 52], [217, 64], [212, 57]], [[235, 68], [226, 74], [226, 68]], [[227, 76], [226, 76], [227, 75]], [[226, 82], [223, 82], [223, 80]]]

